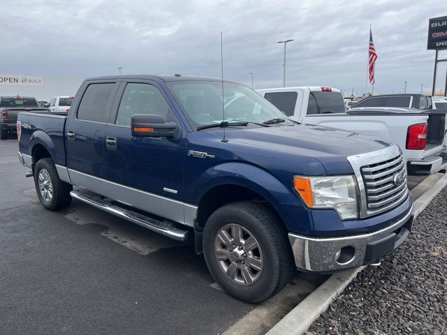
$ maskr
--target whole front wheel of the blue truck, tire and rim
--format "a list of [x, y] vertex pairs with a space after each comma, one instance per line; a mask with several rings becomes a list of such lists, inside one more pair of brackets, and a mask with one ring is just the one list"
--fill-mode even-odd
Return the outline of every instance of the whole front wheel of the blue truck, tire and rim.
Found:
[[217, 209], [203, 231], [208, 269], [225, 292], [258, 303], [291, 280], [291, 247], [278, 219], [263, 205], [233, 202]]

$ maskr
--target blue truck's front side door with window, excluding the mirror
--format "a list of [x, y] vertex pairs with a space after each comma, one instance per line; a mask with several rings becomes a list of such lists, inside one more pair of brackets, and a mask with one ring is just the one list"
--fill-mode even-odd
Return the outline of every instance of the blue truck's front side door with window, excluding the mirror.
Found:
[[[186, 138], [182, 138], [182, 126], [168, 96], [150, 80], [122, 82], [112, 110], [104, 144], [104, 177], [114, 183], [110, 186], [113, 194], [108, 196], [178, 221], [183, 208], [171, 200], [183, 197]], [[179, 137], [133, 137], [133, 114], [159, 115], [166, 122], [174, 121]]]

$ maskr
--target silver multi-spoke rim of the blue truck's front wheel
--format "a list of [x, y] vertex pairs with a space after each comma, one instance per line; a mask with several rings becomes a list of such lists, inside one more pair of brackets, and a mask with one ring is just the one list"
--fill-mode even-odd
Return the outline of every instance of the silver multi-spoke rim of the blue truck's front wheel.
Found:
[[224, 225], [214, 240], [214, 256], [223, 274], [233, 283], [249, 286], [261, 278], [263, 253], [247, 228], [236, 223]]

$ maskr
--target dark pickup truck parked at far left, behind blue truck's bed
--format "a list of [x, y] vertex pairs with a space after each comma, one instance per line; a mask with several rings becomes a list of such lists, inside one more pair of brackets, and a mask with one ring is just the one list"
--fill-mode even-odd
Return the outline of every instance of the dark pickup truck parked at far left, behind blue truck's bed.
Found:
[[47, 112], [47, 108], [39, 107], [36, 98], [31, 96], [0, 96], [0, 139], [6, 140], [10, 134], [16, 133], [17, 114], [19, 112]]

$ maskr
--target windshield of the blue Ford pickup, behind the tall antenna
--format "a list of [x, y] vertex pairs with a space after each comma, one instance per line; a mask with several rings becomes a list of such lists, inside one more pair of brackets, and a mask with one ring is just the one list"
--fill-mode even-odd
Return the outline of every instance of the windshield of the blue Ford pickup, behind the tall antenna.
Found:
[[[221, 82], [170, 82], [168, 86], [193, 128], [223, 121]], [[223, 107], [225, 121], [247, 121], [256, 126], [272, 119], [286, 119], [275, 126], [293, 125], [277, 107], [240, 84], [223, 83]]]

